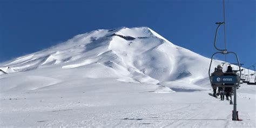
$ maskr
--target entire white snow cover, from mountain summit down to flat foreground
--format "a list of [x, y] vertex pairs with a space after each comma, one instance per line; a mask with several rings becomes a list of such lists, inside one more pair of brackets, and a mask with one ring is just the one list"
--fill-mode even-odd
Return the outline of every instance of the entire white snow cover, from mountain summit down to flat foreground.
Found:
[[256, 86], [241, 84], [232, 121], [209, 64], [147, 27], [77, 35], [0, 64], [0, 127], [256, 127]]

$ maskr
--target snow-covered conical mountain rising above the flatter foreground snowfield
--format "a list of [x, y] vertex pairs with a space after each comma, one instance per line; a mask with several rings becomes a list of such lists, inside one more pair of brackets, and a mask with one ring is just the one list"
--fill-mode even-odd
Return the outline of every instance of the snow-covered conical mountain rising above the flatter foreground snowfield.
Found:
[[[174, 45], [150, 28], [142, 27], [91, 31], [0, 67], [13, 73], [53, 67], [83, 69], [90, 65], [100, 69], [83, 72], [84, 77], [116, 77], [124, 82], [157, 84], [182, 78], [193, 83], [207, 77], [208, 64], [208, 58]], [[7, 67], [12, 70], [6, 70]]]

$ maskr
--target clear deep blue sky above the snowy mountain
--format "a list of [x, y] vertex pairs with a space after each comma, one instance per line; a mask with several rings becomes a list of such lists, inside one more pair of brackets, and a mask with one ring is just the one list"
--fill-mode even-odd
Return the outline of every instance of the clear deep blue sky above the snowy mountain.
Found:
[[[226, 0], [228, 51], [245, 67], [256, 63], [256, 2]], [[223, 0], [0, 0], [0, 62], [49, 48], [75, 35], [148, 26], [172, 43], [210, 58]], [[224, 48], [223, 27], [218, 46]], [[221, 55], [217, 59], [224, 60]], [[235, 63], [228, 55], [228, 62]]]

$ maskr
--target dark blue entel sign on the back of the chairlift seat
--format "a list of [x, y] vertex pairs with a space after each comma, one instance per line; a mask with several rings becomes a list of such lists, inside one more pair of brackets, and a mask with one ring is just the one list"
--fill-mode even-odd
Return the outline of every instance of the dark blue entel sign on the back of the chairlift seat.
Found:
[[235, 84], [237, 82], [237, 77], [235, 76], [213, 76], [213, 83]]

